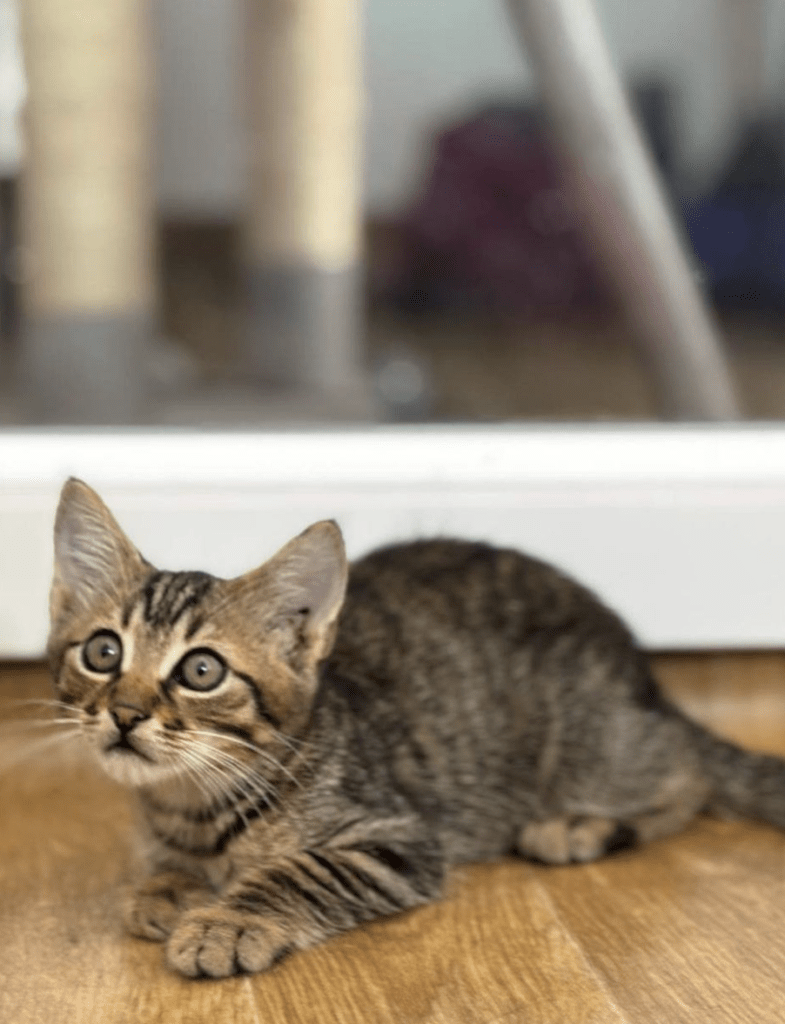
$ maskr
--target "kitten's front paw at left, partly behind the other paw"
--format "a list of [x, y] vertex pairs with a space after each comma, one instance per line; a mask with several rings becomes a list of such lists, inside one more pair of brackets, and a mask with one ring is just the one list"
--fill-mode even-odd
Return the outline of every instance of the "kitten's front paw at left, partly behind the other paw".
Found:
[[127, 931], [140, 939], [163, 942], [188, 909], [205, 906], [215, 894], [183, 871], [159, 871], [129, 892], [123, 902]]

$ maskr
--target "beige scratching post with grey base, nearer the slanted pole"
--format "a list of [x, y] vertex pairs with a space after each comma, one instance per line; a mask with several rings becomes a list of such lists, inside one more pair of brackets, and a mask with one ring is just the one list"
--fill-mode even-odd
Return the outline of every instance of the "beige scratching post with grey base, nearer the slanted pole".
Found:
[[361, 403], [359, 4], [245, 0], [245, 369]]

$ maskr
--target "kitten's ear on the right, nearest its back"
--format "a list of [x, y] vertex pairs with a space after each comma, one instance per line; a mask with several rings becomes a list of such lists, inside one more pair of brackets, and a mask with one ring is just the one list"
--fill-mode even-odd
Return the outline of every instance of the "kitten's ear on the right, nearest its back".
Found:
[[288, 634], [286, 647], [294, 668], [313, 668], [330, 653], [348, 571], [341, 530], [325, 519], [243, 578], [255, 598], [261, 598], [268, 628]]

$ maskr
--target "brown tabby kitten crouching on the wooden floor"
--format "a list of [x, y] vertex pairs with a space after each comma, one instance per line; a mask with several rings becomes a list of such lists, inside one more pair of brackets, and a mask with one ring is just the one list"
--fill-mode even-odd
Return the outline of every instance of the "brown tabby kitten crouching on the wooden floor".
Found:
[[189, 977], [428, 903], [462, 861], [593, 860], [707, 809], [785, 827], [785, 762], [687, 720], [613, 612], [515, 551], [424, 541], [348, 570], [319, 522], [236, 580], [164, 572], [72, 479], [48, 650], [138, 797], [128, 928]]

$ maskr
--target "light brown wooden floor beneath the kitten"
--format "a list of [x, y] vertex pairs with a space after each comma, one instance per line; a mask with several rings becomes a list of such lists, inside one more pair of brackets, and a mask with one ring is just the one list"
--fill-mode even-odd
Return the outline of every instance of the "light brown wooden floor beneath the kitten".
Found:
[[[696, 717], [785, 753], [785, 655], [663, 656], [657, 667]], [[0, 718], [18, 718], [13, 701], [39, 695], [40, 667], [0, 666]], [[45, 754], [20, 763], [23, 734], [40, 730], [0, 725], [3, 1024], [785, 1019], [785, 837], [710, 819], [588, 866], [465, 868], [438, 906], [270, 974], [184, 981], [160, 946], [120, 928], [123, 795], [78, 763]]]

